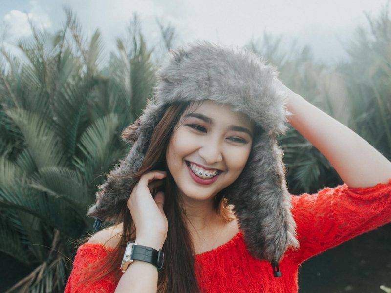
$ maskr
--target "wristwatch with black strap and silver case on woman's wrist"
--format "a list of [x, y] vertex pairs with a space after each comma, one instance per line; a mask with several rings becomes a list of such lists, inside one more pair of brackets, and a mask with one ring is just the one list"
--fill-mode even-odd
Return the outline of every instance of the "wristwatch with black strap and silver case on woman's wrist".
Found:
[[125, 272], [128, 266], [133, 260], [142, 260], [155, 265], [157, 271], [160, 272], [164, 263], [164, 252], [159, 249], [158, 251], [152, 247], [137, 244], [131, 241], [126, 243], [126, 249], [124, 257], [122, 258], [120, 269]]

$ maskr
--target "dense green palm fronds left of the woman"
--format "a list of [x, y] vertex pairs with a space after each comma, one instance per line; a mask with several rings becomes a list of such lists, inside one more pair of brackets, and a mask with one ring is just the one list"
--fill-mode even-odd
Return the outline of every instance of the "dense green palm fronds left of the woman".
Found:
[[63, 290], [72, 241], [92, 227], [86, 212], [101, 174], [130, 148], [119, 131], [155, 83], [137, 15], [130, 45], [118, 38], [104, 66], [99, 30], [87, 41], [64, 10], [55, 34], [30, 21], [33, 37], [18, 42], [25, 60], [1, 49], [0, 251], [31, 267], [9, 292]]

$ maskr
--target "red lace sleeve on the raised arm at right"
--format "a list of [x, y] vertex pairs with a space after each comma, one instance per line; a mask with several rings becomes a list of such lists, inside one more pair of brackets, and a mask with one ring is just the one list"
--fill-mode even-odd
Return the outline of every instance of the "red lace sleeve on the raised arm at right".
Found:
[[372, 187], [345, 183], [317, 193], [291, 195], [292, 216], [300, 247], [290, 259], [300, 264], [360, 234], [391, 221], [391, 178]]

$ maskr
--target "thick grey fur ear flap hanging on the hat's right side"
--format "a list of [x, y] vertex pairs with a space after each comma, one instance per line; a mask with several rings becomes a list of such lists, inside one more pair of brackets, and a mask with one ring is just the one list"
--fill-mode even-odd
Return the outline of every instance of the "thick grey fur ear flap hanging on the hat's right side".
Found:
[[227, 196], [248, 251], [270, 262], [278, 262], [288, 245], [299, 245], [282, 155], [275, 135], [263, 132], [254, 137], [246, 167]]

